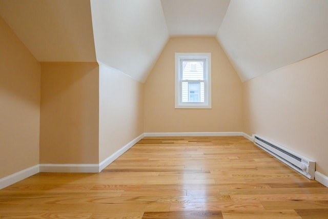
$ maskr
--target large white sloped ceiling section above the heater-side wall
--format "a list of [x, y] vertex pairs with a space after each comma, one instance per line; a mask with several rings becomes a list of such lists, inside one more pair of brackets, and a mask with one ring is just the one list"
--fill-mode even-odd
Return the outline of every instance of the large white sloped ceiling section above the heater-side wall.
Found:
[[328, 49], [328, 1], [232, 0], [217, 39], [241, 81]]

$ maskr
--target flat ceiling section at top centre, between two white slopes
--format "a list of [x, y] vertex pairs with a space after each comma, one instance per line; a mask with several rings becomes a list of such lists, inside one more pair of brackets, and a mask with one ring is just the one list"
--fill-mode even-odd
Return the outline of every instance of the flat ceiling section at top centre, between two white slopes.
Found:
[[161, 0], [170, 36], [215, 36], [230, 0]]

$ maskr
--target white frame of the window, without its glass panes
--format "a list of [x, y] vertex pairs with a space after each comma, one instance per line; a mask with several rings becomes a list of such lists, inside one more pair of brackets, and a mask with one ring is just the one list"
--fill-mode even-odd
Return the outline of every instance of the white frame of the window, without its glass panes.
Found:
[[[204, 80], [190, 82], [204, 82], [203, 103], [182, 102], [182, 66], [183, 59], [205, 59]], [[189, 94], [188, 94], [189, 95]], [[211, 101], [211, 53], [175, 53], [175, 108], [176, 109], [212, 109]]]

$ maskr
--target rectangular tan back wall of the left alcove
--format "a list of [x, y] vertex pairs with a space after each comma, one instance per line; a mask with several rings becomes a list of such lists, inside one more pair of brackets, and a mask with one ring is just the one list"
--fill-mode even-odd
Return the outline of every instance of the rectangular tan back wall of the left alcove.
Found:
[[41, 63], [40, 163], [97, 164], [97, 63]]

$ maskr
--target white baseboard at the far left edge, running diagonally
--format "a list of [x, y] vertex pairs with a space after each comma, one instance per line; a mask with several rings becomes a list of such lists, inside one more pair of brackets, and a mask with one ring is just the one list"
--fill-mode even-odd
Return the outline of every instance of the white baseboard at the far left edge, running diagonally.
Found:
[[27, 177], [30, 177], [39, 172], [39, 165], [21, 170], [19, 172], [13, 173], [9, 176], [0, 178], [0, 189], [3, 189], [7, 186], [10, 186], [18, 181], [24, 180]]

